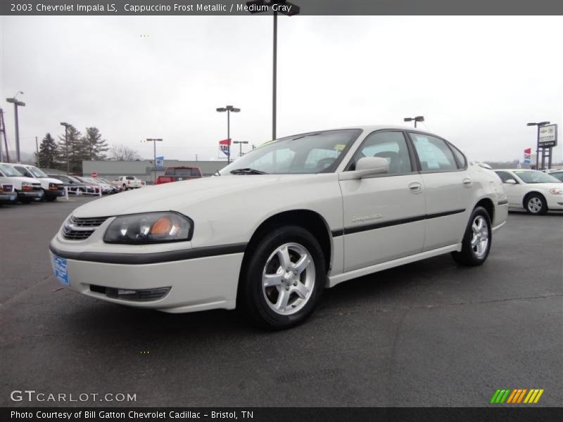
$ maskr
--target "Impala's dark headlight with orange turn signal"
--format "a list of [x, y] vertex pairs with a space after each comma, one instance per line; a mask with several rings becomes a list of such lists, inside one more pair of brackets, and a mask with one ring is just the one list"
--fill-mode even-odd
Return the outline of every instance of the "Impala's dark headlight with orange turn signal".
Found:
[[122, 215], [110, 224], [103, 235], [106, 243], [144, 245], [189, 241], [194, 233], [194, 223], [177, 212], [148, 212]]

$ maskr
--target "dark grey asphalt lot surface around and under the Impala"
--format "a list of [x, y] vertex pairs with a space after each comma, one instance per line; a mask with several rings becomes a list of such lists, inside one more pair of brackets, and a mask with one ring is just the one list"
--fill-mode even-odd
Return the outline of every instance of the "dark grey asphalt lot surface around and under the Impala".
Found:
[[90, 199], [0, 209], [0, 406], [13, 390], [122, 392], [122, 406], [486, 406], [497, 388], [563, 404], [563, 215], [512, 212], [483, 267], [449, 255], [327, 290], [303, 326], [164, 314], [65, 289], [47, 244]]

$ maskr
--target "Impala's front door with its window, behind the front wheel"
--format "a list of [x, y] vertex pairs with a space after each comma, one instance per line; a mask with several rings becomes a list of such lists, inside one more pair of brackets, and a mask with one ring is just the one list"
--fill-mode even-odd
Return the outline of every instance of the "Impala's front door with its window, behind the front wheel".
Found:
[[344, 215], [344, 271], [413, 255], [424, 242], [424, 188], [415, 159], [400, 130], [369, 134], [348, 163], [362, 157], [389, 162], [388, 174], [341, 180]]

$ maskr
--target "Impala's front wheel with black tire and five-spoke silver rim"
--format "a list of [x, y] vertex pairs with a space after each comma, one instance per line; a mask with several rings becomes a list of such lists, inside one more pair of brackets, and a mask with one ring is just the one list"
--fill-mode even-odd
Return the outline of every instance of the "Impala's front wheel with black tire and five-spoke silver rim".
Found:
[[241, 272], [239, 305], [256, 324], [282, 330], [301, 324], [319, 302], [327, 267], [319, 242], [300, 226], [281, 226], [251, 245]]

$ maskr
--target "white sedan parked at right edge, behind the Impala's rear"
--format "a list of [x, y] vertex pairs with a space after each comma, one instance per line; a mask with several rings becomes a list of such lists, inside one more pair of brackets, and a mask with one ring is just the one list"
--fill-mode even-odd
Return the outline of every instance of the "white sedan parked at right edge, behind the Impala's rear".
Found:
[[510, 207], [524, 208], [533, 215], [563, 210], [563, 182], [538, 170], [495, 170]]

